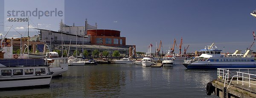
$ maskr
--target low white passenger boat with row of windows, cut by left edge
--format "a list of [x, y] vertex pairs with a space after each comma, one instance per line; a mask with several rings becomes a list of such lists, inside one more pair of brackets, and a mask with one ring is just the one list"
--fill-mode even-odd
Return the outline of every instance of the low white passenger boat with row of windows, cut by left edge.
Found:
[[[13, 62], [12, 60], [6, 59], [2, 61], [9, 61], [9, 64], [17, 63], [16, 65], [19, 65], [18, 62]], [[52, 79], [52, 73], [49, 71], [48, 66], [6, 66], [0, 64], [0, 72], [1, 89], [45, 87], [49, 86]]]

